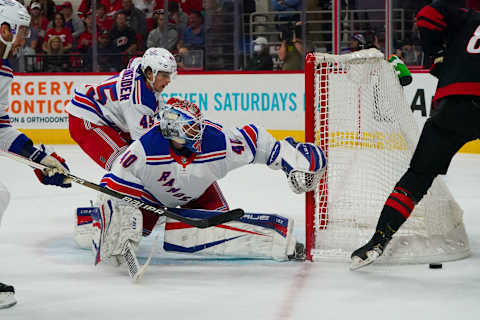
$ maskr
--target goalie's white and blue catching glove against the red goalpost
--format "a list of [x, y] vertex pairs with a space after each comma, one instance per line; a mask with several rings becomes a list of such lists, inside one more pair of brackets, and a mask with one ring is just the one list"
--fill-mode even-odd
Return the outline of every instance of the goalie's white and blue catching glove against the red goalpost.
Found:
[[267, 160], [270, 168], [281, 168], [285, 172], [288, 185], [295, 193], [314, 190], [326, 163], [320, 147], [312, 143], [298, 143], [292, 137], [277, 141]]

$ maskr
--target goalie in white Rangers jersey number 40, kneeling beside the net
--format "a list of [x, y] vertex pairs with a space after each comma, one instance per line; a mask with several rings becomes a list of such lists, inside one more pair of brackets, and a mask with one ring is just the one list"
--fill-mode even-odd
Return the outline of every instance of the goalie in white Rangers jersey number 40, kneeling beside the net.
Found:
[[[210, 201], [218, 205], [205, 193], [235, 168], [261, 163], [282, 169], [292, 190], [302, 193], [315, 188], [325, 161], [322, 150], [313, 144], [292, 138], [276, 141], [253, 124], [226, 129], [203, 119], [195, 104], [172, 98], [159, 122], [118, 157], [101, 185], [185, 216], [208, 217], [218, 211], [185, 208], [209, 209]], [[97, 263], [120, 257], [127, 242], [138, 246], [142, 233], [149, 234], [154, 227], [143, 223], [142, 228], [145, 212], [121, 200], [101, 195], [98, 206], [92, 224]], [[279, 261], [295, 255], [303, 258], [304, 252], [298, 252], [303, 245], [296, 243], [292, 231], [291, 218], [272, 214], [247, 213], [238, 221], [207, 229], [167, 219], [164, 249]]]

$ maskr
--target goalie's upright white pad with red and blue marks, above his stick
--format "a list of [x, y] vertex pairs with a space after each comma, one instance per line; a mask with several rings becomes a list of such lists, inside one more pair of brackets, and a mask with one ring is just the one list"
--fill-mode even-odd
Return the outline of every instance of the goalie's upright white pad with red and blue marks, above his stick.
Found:
[[121, 261], [127, 243], [134, 249], [140, 245], [142, 237], [142, 213], [132, 206], [123, 204], [121, 201], [110, 199], [107, 196], [99, 196], [100, 210], [92, 213], [94, 220], [94, 235], [92, 249], [95, 254], [95, 264], [105, 260]]

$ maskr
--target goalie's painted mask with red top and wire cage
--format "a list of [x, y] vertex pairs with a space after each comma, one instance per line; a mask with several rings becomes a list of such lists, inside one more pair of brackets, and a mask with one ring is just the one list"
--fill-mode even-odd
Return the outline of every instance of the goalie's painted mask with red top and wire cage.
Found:
[[204, 128], [200, 108], [186, 100], [170, 98], [160, 113], [162, 135], [192, 152], [201, 151]]

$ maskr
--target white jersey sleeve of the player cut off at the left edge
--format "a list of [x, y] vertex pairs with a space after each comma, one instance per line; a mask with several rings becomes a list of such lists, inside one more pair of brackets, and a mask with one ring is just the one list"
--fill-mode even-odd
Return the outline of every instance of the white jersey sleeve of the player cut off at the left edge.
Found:
[[20, 153], [25, 142], [30, 139], [10, 124], [6, 109], [13, 80], [13, 70], [7, 59], [0, 61], [0, 149]]

